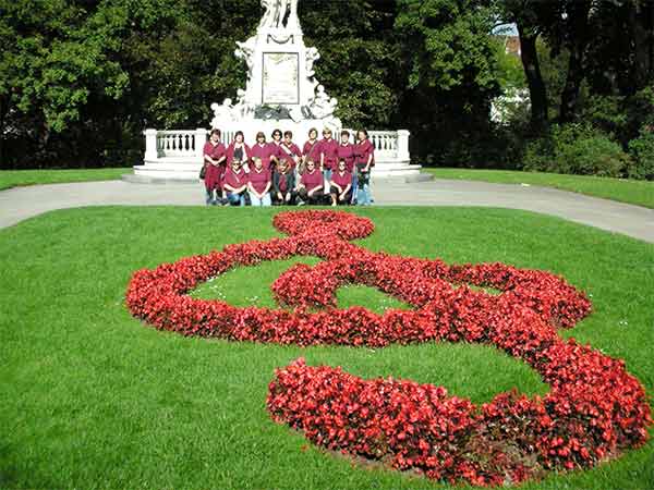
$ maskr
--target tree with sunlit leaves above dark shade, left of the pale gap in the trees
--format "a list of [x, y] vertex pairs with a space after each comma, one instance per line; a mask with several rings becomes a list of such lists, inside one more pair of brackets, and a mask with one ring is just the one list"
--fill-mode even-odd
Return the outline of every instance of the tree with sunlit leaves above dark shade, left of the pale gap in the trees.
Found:
[[471, 142], [488, 133], [491, 100], [500, 91], [492, 21], [477, 2], [399, 2], [402, 118], [411, 122], [412, 154], [423, 162], [479, 158], [480, 146]]

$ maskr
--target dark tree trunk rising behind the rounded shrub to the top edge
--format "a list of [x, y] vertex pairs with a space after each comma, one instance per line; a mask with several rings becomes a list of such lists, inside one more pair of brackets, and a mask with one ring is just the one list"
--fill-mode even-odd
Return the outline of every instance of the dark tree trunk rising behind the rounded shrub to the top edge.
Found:
[[559, 112], [559, 120], [561, 122], [572, 121], [579, 105], [579, 90], [584, 77], [583, 65], [590, 35], [590, 1], [579, 1], [573, 2], [568, 12], [570, 59], [568, 61], [566, 86], [564, 87], [564, 91], [561, 91], [561, 107]]

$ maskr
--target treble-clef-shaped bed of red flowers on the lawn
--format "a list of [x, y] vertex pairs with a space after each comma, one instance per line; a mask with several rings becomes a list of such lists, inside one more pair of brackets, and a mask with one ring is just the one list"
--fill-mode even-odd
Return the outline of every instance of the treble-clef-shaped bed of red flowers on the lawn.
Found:
[[[372, 253], [347, 241], [367, 236], [373, 223], [339, 211], [283, 212], [274, 224], [290, 236], [229, 245], [135, 272], [126, 296], [130, 310], [159, 329], [238, 341], [492, 344], [523, 359], [552, 387], [544, 397], [502, 393], [475, 406], [440, 387], [362, 380], [299, 359], [279, 369], [270, 383], [267, 406], [275, 420], [331, 450], [474, 485], [590, 467], [646, 441], [650, 406], [623, 363], [557, 335], [557, 328], [572, 327], [591, 310], [588, 298], [564, 279], [502, 264], [448, 266]], [[294, 266], [274, 283], [276, 298], [292, 311], [186, 296], [230, 268], [294, 255], [325, 261]], [[377, 287], [414, 309], [384, 315], [363, 307], [337, 309], [336, 291], [346, 283]]]

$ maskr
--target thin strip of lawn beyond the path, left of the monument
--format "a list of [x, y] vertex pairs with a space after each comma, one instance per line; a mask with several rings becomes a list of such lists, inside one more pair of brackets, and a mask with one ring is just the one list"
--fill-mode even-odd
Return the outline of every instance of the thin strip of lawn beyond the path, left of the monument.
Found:
[[114, 181], [132, 168], [73, 170], [0, 170], [0, 191], [22, 185]]

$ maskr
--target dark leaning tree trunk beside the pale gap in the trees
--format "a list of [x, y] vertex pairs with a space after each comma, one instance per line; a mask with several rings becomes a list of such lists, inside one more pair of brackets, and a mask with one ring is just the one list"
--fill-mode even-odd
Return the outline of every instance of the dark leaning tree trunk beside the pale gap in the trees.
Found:
[[520, 58], [531, 99], [531, 125], [533, 130], [541, 131], [547, 127], [547, 89], [543, 82], [536, 52], [538, 35], [526, 32], [518, 24], [518, 36], [520, 37]]

